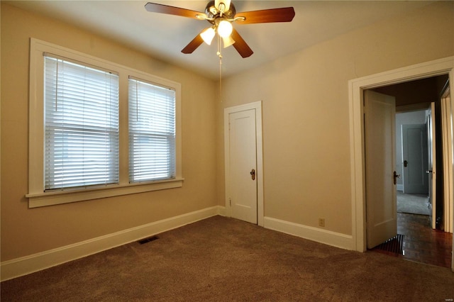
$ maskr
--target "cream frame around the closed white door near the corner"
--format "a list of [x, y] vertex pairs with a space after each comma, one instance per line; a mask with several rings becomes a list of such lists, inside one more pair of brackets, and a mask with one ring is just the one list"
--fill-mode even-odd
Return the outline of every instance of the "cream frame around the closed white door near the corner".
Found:
[[226, 216], [231, 217], [231, 207], [228, 201], [230, 196], [230, 139], [228, 129], [228, 116], [231, 113], [255, 109], [255, 145], [257, 148], [257, 224], [263, 226], [263, 146], [262, 146], [262, 101], [224, 108], [224, 175], [225, 175], [225, 200]]

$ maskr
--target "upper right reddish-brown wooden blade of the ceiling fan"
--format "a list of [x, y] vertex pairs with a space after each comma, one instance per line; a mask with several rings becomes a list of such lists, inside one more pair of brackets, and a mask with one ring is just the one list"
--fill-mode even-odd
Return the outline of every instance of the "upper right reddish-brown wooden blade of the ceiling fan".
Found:
[[280, 9], [263, 9], [261, 11], [245, 11], [237, 13], [235, 18], [244, 17], [245, 21], [237, 21], [238, 24], [290, 22], [295, 16], [293, 7]]

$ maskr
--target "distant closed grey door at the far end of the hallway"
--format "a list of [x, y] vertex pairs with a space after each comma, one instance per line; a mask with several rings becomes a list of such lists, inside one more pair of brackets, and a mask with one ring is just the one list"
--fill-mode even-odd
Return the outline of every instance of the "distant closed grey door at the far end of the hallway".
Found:
[[402, 125], [402, 177], [405, 194], [428, 194], [426, 124]]

